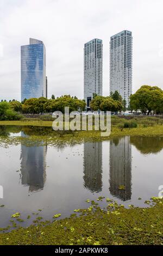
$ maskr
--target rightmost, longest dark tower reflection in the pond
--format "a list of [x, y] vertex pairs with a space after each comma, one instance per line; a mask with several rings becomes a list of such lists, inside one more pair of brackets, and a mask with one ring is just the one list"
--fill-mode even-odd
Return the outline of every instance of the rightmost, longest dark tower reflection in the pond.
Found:
[[[110, 141], [109, 190], [123, 201], [131, 199], [131, 145], [130, 137]], [[125, 187], [125, 190], [120, 189]], [[121, 187], [122, 188], [122, 187]]]

